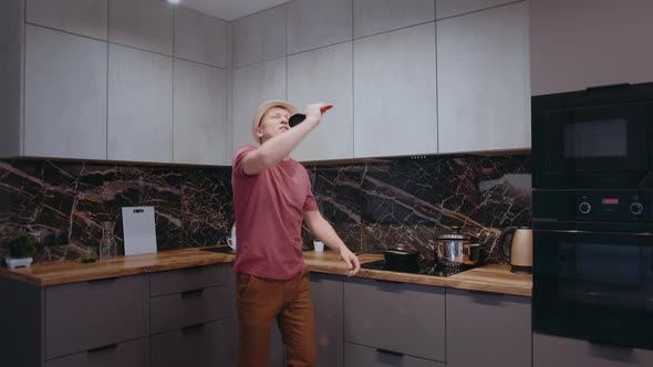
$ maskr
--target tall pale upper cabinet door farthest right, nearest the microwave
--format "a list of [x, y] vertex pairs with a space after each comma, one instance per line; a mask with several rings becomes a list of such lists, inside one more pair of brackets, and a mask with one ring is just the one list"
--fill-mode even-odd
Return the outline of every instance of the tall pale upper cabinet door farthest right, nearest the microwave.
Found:
[[439, 153], [530, 148], [528, 9], [437, 22]]

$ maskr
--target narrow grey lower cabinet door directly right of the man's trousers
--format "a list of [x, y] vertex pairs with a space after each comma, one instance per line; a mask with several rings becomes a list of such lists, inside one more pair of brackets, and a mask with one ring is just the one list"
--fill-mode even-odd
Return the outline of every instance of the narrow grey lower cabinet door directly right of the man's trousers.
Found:
[[343, 365], [343, 292], [341, 276], [311, 273], [311, 301], [315, 312], [319, 367]]

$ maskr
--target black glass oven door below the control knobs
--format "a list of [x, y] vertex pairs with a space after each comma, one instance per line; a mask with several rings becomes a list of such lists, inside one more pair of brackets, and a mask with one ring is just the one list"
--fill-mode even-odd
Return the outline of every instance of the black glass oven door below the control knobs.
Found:
[[533, 329], [653, 349], [653, 226], [533, 221]]

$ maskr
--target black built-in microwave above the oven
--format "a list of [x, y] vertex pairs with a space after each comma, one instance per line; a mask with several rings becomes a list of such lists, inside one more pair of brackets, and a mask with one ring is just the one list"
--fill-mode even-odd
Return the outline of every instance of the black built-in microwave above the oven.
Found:
[[540, 189], [653, 187], [653, 83], [535, 96]]

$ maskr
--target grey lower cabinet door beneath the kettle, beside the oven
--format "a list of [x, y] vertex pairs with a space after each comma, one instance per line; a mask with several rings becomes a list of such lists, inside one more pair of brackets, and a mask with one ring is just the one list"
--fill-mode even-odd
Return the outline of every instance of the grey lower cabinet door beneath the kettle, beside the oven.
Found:
[[446, 308], [448, 367], [530, 366], [530, 298], [447, 289]]

